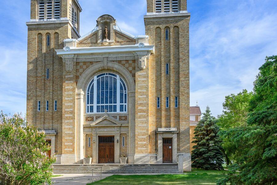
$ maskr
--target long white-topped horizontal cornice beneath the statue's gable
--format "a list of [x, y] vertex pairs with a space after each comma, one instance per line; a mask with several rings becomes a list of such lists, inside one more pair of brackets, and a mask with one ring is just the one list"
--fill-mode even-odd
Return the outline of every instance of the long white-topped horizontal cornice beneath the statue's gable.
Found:
[[60, 57], [102, 57], [102, 56], [122, 56], [122, 55], [145, 55], [155, 53], [155, 46], [146, 45], [126, 45], [107, 47], [65, 47], [55, 50]]

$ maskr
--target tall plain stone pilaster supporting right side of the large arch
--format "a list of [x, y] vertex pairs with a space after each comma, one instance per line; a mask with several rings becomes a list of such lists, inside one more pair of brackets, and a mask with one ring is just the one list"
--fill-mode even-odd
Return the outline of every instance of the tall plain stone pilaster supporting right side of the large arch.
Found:
[[128, 137], [128, 163], [134, 164], [135, 154], [135, 92], [129, 92], [129, 137]]

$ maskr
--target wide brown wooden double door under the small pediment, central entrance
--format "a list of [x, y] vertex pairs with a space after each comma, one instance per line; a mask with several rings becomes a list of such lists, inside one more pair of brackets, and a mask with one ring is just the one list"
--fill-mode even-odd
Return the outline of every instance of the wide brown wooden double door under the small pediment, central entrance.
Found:
[[98, 163], [114, 163], [114, 136], [99, 136]]

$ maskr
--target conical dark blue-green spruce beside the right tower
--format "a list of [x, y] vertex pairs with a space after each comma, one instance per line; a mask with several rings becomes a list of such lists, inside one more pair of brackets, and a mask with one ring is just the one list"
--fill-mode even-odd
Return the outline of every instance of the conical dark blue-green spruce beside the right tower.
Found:
[[205, 170], [223, 170], [222, 140], [218, 136], [219, 127], [216, 125], [215, 117], [211, 116], [210, 108], [207, 106], [204, 116], [195, 127], [195, 137], [192, 143], [193, 151], [191, 160], [193, 168]]

